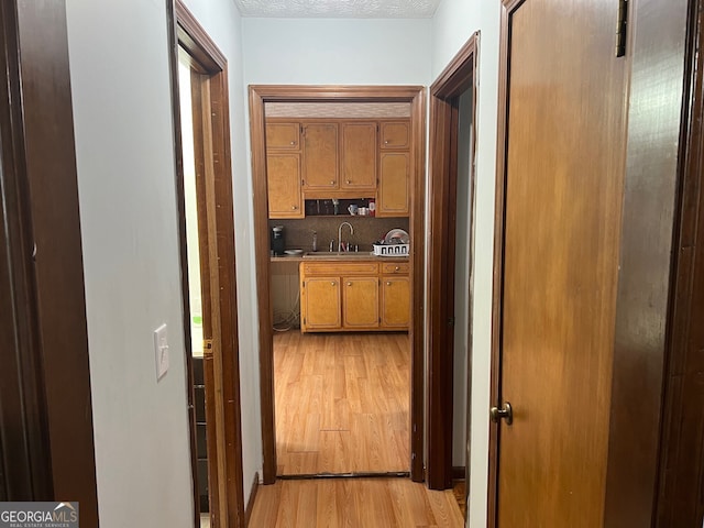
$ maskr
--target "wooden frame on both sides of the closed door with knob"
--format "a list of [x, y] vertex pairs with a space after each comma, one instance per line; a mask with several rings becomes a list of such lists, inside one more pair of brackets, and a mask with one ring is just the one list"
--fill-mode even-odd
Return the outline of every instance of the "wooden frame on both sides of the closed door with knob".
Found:
[[[529, 0], [503, 0], [501, 16], [490, 392], [493, 405], [501, 402], [509, 24], [513, 12], [524, 1]], [[624, 57], [627, 68], [626, 89], [631, 105], [641, 94], [649, 94], [653, 98], [664, 95], [667, 100], [672, 94], [667, 90], [676, 89], [676, 82], [681, 81], [673, 78], [672, 69], [684, 61], [678, 55], [676, 38], [662, 28], [666, 24], [670, 29], [672, 24], [676, 25], [678, 16], [683, 13], [679, 7], [673, 9], [671, 2], [664, 0], [628, 2], [628, 28], [638, 26], [638, 35], [634, 36], [635, 32], [629, 31]], [[691, 12], [689, 16], [692, 16]], [[657, 61], [653, 61], [654, 57]], [[650, 526], [654, 521], [653, 513], [658, 504], [658, 480], [664, 476], [659, 473], [659, 463], [668, 452], [670, 442], [668, 438], [661, 438], [663, 383], [670, 369], [666, 359], [672, 354], [680, 354], [682, 358], [683, 354], [683, 351], [673, 350], [671, 345], [673, 332], [676, 331], [673, 327], [674, 289], [671, 282], [676, 271], [673, 240], [680, 229], [676, 218], [682, 205], [678, 200], [678, 187], [681, 185], [682, 169], [674, 169], [661, 162], [676, 158], [678, 165], [682, 163], [684, 140], [680, 132], [681, 111], [681, 108], [674, 108], [673, 111], [672, 107], [668, 107], [661, 113], [644, 118], [637, 109], [629, 108], [626, 130], [628, 154], [634, 145], [637, 148], [639, 142], [645, 147], [638, 151], [638, 155], [628, 157], [624, 152], [620, 271], [616, 298], [609, 455], [603, 517], [603, 526], [609, 528], [625, 524]], [[646, 143], [648, 141], [650, 143]], [[646, 210], [650, 215], [642, 215]], [[642, 233], [649, 233], [648, 244], [642, 244]], [[648, 340], [641, 339], [638, 329], [642, 326], [657, 328], [657, 332]], [[634, 375], [634, 372], [639, 375]], [[499, 427], [491, 424], [488, 527], [496, 527], [498, 521], [499, 442]]]

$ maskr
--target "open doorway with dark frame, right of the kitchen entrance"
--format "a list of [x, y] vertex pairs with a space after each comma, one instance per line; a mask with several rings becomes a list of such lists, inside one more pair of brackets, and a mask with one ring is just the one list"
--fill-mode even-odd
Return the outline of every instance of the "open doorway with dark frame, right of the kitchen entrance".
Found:
[[428, 485], [466, 504], [474, 268], [475, 33], [430, 87]]

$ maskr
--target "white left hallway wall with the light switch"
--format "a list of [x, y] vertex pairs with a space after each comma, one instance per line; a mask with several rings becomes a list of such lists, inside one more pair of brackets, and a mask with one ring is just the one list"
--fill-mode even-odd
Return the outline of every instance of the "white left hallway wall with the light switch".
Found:
[[[164, 0], [67, 0], [101, 527], [190, 526], [170, 77]], [[229, 59], [245, 499], [261, 468], [240, 19], [187, 2]], [[152, 332], [168, 324], [156, 382]]]

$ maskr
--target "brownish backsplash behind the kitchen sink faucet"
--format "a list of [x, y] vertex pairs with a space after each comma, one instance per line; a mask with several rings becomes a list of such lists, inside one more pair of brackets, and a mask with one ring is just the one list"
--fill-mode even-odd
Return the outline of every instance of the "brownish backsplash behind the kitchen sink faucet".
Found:
[[[334, 240], [336, 251], [338, 229], [342, 222], [350, 222], [354, 234], [350, 237], [350, 228], [342, 230], [342, 239], [349, 240], [352, 248], [359, 245], [360, 251], [372, 251], [372, 244], [382, 239], [392, 229], [408, 231], [408, 218], [377, 218], [339, 215], [334, 217], [307, 217], [295, 220], [270, 220], [268, 227], [284, 227], [286, 249], [312, 250], [312, 233], [318, 234], [318, 251], [328, 251], [330, 241]], [[413, 240], [410, 241], [413, 244]]]

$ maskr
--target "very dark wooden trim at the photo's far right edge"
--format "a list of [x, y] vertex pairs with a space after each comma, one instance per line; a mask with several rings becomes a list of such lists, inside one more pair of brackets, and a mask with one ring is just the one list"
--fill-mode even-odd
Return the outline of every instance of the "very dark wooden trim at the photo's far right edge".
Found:
[[[680, 182], [672, 268], [672, 320], [668, 336], [668, 358], [662, 404], [659, 482], [653, 526], [697, 527], [704, 517], [704, 446], [698, 432], [704, 414], [704, 394], [696, 392], [701, 376], [696, 350], [702, 349], [696, 321], [704, 318], [702, 283], [704, 276], [704, 11], [701, 2], [689, 2]], [[701, 280], [701, 279], [700, 279]], [[698, 288], [697, 288], [698, 286]], [[683, 419], [686, 414], [686, 419]]]

